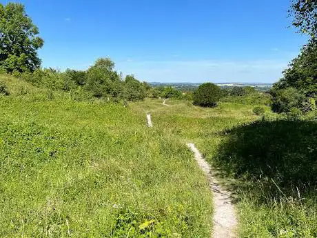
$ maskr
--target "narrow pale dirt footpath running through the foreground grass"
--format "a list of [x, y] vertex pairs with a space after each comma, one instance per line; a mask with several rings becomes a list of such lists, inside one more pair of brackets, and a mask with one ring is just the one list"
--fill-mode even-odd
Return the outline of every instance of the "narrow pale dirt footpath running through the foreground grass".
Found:
[[219, 186], [218, 181], [212, 176], [212, 168], [209, 166], [207, 161], [203, 159], [203, 156], [194, 146], [193, 143], [188, 143], [187, 146], [194, 152], [195, 159], [205, 172], [210, 184], [210, 189], [214, 195], [214, 228], [212, 237], [214, 238], [230, 238], [236, 237], [236, 213], [234, 205], [231, 201], [230, 192], [223, 190]]

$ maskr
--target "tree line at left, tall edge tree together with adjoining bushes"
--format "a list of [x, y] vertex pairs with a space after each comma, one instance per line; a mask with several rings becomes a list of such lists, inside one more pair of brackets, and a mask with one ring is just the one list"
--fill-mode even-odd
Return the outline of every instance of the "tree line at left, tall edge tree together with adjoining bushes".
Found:
[[37, 50], [43, 46], [39, 29], [20, 3], [0, 3], [0, 72], [10, 73], [35, 86], [64, 90], [74, 97], [91, 96], [135, 101], [144, 99], [151, 87], [133, 75], [123, 77], [108, 58], [97, 59], [88, 70], [42, 69]]

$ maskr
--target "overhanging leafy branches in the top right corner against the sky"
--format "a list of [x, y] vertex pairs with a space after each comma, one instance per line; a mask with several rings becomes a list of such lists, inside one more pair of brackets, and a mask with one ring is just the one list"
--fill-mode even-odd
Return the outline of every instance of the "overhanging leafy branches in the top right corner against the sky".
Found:
[[292, 0], [289, 14], [294, 17], [293, 25], [300, 32], [316, 36], [317, 32], [317, 1], [316, 0]]

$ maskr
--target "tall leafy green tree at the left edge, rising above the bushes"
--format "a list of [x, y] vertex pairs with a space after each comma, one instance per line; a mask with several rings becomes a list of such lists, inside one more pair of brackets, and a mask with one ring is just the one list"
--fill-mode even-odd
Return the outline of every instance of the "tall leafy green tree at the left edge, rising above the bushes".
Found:
[[0, 68], [7, 72], [34, 71], [41, 65], [37, 50], [43, 39], [20, 3], [0, 3]]

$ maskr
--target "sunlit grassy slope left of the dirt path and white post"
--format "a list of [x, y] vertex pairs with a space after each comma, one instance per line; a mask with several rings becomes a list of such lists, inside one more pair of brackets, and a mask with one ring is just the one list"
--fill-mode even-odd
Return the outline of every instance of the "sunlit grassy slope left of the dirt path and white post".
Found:
[[0, 237], [209, 237], [210, 192], [185, 144], [123, 106], [6, 80]]

